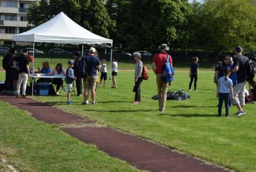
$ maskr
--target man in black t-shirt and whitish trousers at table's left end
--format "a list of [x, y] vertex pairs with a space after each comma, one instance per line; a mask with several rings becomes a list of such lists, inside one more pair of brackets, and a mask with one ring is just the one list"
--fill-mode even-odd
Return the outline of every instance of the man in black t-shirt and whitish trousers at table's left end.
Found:
[[[18, 56], [17, 63], [19, 64], [19, 81], [17, 85], [17, 98], [27, 98], [26, 96], [26, 87], [28, 83], [28, 77], [30, 74], [29, 71], [29, 58], [28, 58], [28, 51], [26, 49], [22, 50], [23, 54]], [[22, 85], [22, 95], [20, 95], [20, 88]]]

